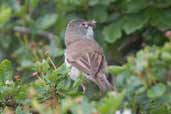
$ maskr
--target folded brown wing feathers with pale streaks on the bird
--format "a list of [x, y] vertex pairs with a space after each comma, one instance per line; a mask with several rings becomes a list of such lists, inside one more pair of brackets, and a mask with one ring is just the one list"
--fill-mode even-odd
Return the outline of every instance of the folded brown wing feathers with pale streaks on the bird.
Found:
[[103, 55], [96, 51], [85, 53], [73, 61], [68, 60], [71, 65], [92, 76], [96, 76], [101, 70], [103, 67], [103, 61]]

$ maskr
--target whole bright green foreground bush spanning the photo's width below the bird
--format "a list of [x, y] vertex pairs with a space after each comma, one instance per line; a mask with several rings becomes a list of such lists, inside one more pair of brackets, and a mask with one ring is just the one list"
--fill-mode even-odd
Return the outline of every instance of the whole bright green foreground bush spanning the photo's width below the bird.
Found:
[[117, 91], [109, 92], [100, 101], [90, 101], [78, 91], [81, 78], [72, 83], [65, 65], [51, 68], [43, 60], [35, 65], [39, 74], [35, 72], [33, 76], [37, 79], [25, 84], [19, 77], [12, 79], [11, 75], [6, 75], [12, 71], [10, 62], [4, 60], [0, 64], [0, 74], [2, 79], [8, 80], [0, 82], [0, 102], [4, 111], [11, 111], [7, 107], [12, 106], [17, 114], [34, 111], [42, 114], [68, 111], [73, 114], [113, 114], [119, 107], [130, 108], [134, 113], [169, 114], [170, 63], [170, 43], [162, 48], [147, 47], [136, 57], [129, 57], [123, 66], [109, 66], [107, 71], [117, 76]]

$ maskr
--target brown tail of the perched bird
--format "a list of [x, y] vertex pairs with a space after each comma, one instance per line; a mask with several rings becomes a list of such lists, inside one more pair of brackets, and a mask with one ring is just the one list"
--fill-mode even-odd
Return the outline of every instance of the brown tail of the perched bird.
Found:
[[102, 92], [110, 91], [113, 90], [112, 85], [110, 82], [107, 80], [106, 75], [104, 73], [99, 72], [96, 75], [96, 84], [100, 88]]

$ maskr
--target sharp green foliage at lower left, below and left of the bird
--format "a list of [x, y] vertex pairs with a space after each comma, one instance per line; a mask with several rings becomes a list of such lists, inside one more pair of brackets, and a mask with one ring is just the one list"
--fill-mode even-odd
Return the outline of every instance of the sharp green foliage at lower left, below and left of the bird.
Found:
[[[6, 71], [9, 61], [1, 62], [0, 68]], [[109, 93], [100, 101], [90, 102], [83, 93], [79, 92], [80, 81], [71, 82], [65, 65], [59, 68], [50, 67], [48, 61], [37, 63], [34, 68], [35, 81], [24, 83], [20, 77], [0, 81], [0, 111], [3, 113], [41, 113], [41, 114], [73, 114], [83, 113], [114, 113], [120, 106], [124, 92]], [[38, 70], [39, 69], [39, 70]], [[6, 75], [1, 75], [5, 78]], [[72, 97], [72, 98], [71, 98]], [[110, 106], [110, 107], [109, 107]], [[4, 110], [3, 110], [4, 109]]]

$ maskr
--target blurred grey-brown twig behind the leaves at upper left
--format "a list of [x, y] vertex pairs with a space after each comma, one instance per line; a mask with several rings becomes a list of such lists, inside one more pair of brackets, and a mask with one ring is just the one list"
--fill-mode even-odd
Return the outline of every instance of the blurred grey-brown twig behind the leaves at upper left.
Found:
[[[32, 34], [32, 31], [30, 28], [23, 27], [23, 26], [16, 26], [14, 27], [14, 32], [19, 32], [21, 34]], [[50, 32], [45, 32], [45, 31], [38, 31], [36, 36], [44, 37], [47, 38], [48, 40], [54, 39], [56, 36]]]

